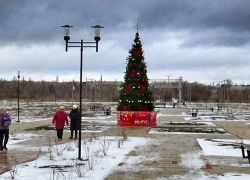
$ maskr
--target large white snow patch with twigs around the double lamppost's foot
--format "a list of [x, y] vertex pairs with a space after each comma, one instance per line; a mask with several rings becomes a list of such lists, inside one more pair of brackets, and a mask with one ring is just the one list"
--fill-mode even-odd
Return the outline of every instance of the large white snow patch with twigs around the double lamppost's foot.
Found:
[[[118, 148], [118, 141], [122, 137], [102, 137], [100, 139], [86, 139], [82, 141], [82, 158], [89, 161], [79, 161], [77, 141], [53, 146], [51, 156], [40, 156], [37, 160], [19, 164], [16, 166], [16, 180], [43, 180], [43, 179], [79, 179], [79, 174], [84, 179], [104, 179], [116, 168], [119, 163], [124, 163], [126, 154], [136, 146], [144, 146], [146, 138], [130, 137], [123, 141]], [[48, 147], [43, 147], [47, 148]], [[103, 152], [107, 151], [105, 156]], [[51, 159], [51, 160], [50, 160]], [[60, 168], [39, 168], [42, 166], [60, 166]], [[73, 166], [65, 168], [65, 166]], [[15, 166], [14, 166], [15, 167]], [[92, 168], [92, 169], [91, 169]], [[10, 179], [10, 173], [1, 175], [2, 178]]]

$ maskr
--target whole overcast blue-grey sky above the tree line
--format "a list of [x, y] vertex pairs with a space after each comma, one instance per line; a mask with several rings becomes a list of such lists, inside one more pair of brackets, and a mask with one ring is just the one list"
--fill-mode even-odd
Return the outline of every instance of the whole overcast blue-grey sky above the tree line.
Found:
[[83, 79], [123, 80], [137, 20], [148, 77], [250, 84], [249, 0], [0, 0], [0, 78], [79, 81], [80, 49], [100, 24], [99, 52], [85, 48]]

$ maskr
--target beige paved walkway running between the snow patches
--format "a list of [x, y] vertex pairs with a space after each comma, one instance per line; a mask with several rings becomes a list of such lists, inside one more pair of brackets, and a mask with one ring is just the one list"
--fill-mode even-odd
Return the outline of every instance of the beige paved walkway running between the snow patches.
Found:
[[[161, 122], [184, 122], [181, 112], [187, 112], [187, 109], [161, 109], [161, 113], [167, 114], [167, 116], [161, 116], [158, 120]], [[113, 121], [116, 116], [110, 117], [108, 120]], [[126, 160], [121, 162], [122, 165], [118, 166], [114, 172], [106, 177], [106, 180], [120, 180], [120, 179], [157, 179], [157, 178], [170, 178], [173, 175], [190, 175], [192, 177], [192, 169], [181, 165], [181, 155], [187, 153], [198, 153], [202, 149], [199, 146], [196, 138], [210, 138], [210, 139], [250, 139], [249, 127], [243, 122], [215, 122], [217, 127], [222, 127], [231, 134], [216, 135], [216, 134], [149, 134], [150, 127], [118, 127], [112, 126], [99, 135], [105, 136], [122, 136], [122, 132], [125, 132], [128, 137], [148, 137], [151, 138], [143, 147], [138, 147], [131, 151], [127, 155], [127, 159], [133, 156], [140, 156], [141, 162], [135, 163], [133, 166], [128, 167]], [[0, 174], [10, 170], [11, 165], [17, 163], [23, 163], [36, 159], [41, 153], [39, 147], [48, 145], [47, 137], [56, 139], [56, 132], [54, 131], [27, 131], [26, 129], [51, 125], [51, 120], [48, 121], [36, 121], [30, 123], [15, 123], [11, 125], [10, 133], [37, 133], [44, 136], [31, 139], [26, 142], [20, 143], [20, 145], [33, 147], [31, 151], [25, 152], [21, 149], [10, 149], [8, 151], [0, 152]], [[109, 125], [110, 126], [110, 125]], [[170, 127], [162, 126], [161, 127]], [[180, 126], [182, 127], [182, 126]], [[185, 127], [185, 126], [183, 126]], [[196, 126], [197, 127], [197, 126]], [[88, 137], [90, 133], [83, 133], [82, 137]], [[57, 143], [65, 143], [69, 141], [69, 133], [64, 133], [65, 139]], [[37, 149], [36, 149], [37, 148]], [[239, 149], [240, 150], [240, 149]], [[244, 165], [248, 164], [247, 160], [237, 157], [219, 157], [219, 156], [201, 156], [205, 166], [200, 168], [200, 171], [207, 172], [209, 174], [223, 175], [227, 172], [249, 173], [249, 167], [230, 166], [231, 162]], [[209, 162], [214, 162], [209, 164]], [[136, 167], [136, 168], [135, 168]], [[126, 169], [126, 170], [125, 170]], [[192, 179], [192, 178], [189, 178]]]

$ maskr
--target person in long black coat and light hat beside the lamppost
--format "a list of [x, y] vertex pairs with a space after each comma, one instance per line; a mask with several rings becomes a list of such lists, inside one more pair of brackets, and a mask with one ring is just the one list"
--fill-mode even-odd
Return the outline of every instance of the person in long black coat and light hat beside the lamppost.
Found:
[[79, 121], [80, 121], [80, 112], [78, 111], [77, 105], [72, 107], [72, 110], [69, 113], [70, 118], [70, 130], [71, 136], [69, 139], [73, 139], [73, 132], [75, 131], [75, 139], [77, 139], [77, 130], [79, 130]]

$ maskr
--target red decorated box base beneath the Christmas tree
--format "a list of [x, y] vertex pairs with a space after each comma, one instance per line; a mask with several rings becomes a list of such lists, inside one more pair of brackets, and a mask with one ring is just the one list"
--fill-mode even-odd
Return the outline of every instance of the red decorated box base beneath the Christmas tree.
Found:
[[156, 111], [117, 111], [118, 126], [156, 126]]

